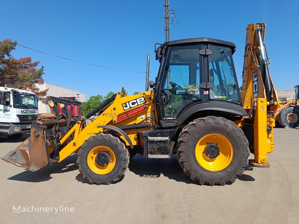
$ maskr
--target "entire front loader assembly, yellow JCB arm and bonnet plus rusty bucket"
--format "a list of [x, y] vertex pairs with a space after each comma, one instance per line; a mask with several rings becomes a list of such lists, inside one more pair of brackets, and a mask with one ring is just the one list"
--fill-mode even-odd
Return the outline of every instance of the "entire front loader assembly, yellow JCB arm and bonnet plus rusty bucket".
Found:
[[88, 114], [91, 117], [100, 113], [85, 126], [86, 120], [81, 119], [80, 114], [72, 116], [74, 106], [81, 111], [81, 102], [48, 96], [45, 103], [50, 106], [51, 114], [38, 116], [32, 123], [30, 138], [1, 159], [37, 171], [78, 152], [86, 139], [99, 133], [119, 136], [127, 147], [132, 148], [138, 144], [137, 132], [150, 129], [155, 123], [153, 99], [152, 90], [134, 96], [122, 96], [118, 92]]

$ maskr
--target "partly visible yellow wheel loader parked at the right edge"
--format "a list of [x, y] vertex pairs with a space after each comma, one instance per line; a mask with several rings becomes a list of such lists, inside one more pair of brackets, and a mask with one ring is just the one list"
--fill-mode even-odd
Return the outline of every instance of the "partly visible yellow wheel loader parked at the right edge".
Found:
[[283, 127], [296, 128], [299, 126], [299, 85], [295, 85], [295, 99], [279, 102], [275, 113], [275, 121]]

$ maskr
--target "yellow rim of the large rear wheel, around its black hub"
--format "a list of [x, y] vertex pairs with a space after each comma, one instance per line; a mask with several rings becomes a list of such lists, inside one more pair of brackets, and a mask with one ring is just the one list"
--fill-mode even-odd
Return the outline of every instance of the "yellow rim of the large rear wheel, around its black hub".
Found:
[[[209, 158], [205, 153], [208, 144], [216, 144], [219, 148], [219, 155], [216, 158]], [[208, 134], [203, 136], [196, 144], [195, 157], [199, 165], [209, 171], [219, 171], [226, 168], [233, 159], [233, 146], [231, 142], [221, 134]]]

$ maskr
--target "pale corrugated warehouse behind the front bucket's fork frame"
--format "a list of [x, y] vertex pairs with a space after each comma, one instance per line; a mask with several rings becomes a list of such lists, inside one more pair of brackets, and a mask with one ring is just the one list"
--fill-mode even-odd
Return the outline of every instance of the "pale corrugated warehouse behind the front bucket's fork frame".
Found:
[[[80, 93], [77, 90], [64, 88], [59, 85], [44, 83], [42, 85], [36, 85], [36, 87], [39, 88], [40, 90], [46, 90], [49, 88], [46, 96], [76, 97], [76, 99], [80, 102], [84, 102], [86, 99], [84, 93]], [[39, 109], [39, 113], [50, 113], [51, 112], [50, 107], [48, 105], [45, 105], [41, 101], [38, 102], [38, 109]]]

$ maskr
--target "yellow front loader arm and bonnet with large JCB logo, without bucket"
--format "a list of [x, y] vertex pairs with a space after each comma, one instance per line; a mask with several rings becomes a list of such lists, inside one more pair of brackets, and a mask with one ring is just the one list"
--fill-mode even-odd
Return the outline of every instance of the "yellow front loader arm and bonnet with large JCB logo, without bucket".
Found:
[[[153, 91], [125, 97], [122, 97], [120, 92], [115, 94], [111, 105], [106, 108], [105, 106], [102, 108], [99, 106], [92, 113], [89, 113], [88, 116], [91, 117], [100, 110], [100, 115], [95, 119], [91, 119], [84, 129], [82, 129], [82, 123], [78, 121], [60, 140], [60, 144], [64, 145], [70, 136], [74, 136], [73, 140], [61, 149], [58, 162], [61, 162], [70, 154], [77, 152], [83, 142], [90, 136], [101, 132], [114, 131], [113, 133], [118, 135], [130, 148], [133, 145], [137, 145], [138, 142], [135, 138], [136, 129], [140, 129], [138, 131], [141, 131], [152, 127], [153, 120], [145, 119], [148, 114], [153, 113], [152, 99]], [[143, 123], [143, 125], [137, 124], [138, 122]], [[130, 125], [131, 127], [128, 129]], [[126, 129], [126, 132], [121, 128]]]

